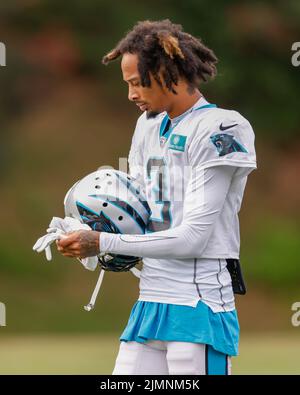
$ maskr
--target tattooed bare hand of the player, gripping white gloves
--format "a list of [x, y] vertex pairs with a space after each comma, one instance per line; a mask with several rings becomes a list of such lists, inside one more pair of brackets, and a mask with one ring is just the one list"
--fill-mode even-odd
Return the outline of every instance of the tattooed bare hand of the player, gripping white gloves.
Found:
[[78, 230], [64, 235], [57, 240], [56, 245], [62, 255], [70, 258], [87, 258], [100, 253], [100, 232], [93, 230]]

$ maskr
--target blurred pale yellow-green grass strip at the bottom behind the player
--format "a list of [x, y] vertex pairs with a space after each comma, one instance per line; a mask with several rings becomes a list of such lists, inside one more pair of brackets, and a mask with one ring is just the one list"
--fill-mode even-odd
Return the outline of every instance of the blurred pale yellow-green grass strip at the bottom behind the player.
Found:
[[[0, 338], [0, 374], [111, 374], [118, 336]], [[243, 335], [233, 374], [300, 374], [300, 336]]]

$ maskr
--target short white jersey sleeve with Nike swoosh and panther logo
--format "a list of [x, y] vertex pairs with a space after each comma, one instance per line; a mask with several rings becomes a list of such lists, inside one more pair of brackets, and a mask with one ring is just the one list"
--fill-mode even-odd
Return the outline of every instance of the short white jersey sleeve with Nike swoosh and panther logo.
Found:
[[[207, 122], [191, 139], [188, 155], [193, 168], [235, 166], [248, 174], [256, 166], [254, 132], [240, 114], [228, 111]], [[199, 127], [200, 129], [200, 127]]]

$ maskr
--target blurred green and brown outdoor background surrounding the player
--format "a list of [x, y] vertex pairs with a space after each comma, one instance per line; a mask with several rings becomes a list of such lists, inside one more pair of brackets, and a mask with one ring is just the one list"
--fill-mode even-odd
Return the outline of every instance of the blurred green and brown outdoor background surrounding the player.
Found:
[[0, 373], [111, 371], [138, 296], [136, 278], [106, 273], [87, 313], [97, 273], [57, 253], [47, 263], [32, 245], [53, 216], [63, 216], [63, 197], [77, 179], [102, 165], [118, 168], [127, 156], [140, 112], [127, 100], [119, 63], [105, 67], [101, 58], [137, 21], [164, 18], [214, 49], [218, 76], [201, 90], [241, 112], [256, 133], [258, 170], [240, 213], [248, 293], [237, 297], [242, 337], [234, 372], [300, 373], [300, 327], [291, 324], [300, 300], [300, 67], [291, 64], [291, 46], [300, 41], [297, 0], [1, 2], [0, 301], [7, 326], [0, 327]]

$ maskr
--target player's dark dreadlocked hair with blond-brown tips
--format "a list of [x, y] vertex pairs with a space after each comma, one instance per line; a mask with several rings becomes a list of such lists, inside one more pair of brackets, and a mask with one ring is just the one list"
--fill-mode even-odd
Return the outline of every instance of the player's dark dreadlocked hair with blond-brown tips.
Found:
[[142, 86], [151, 86], [150, 73], [162, 86], [161, 71], [166, 87], [176, 94], [173, 84], [184, 78], [190, 87], [207, 81], [217, 74], [218, 59], [201, 39], [185, 33], [182, 26], [169, 19], [138, 22], [131, 31], [106, 54], [102, 63], [119, 58], [125, 53], [138, 56], [138, 71]]

